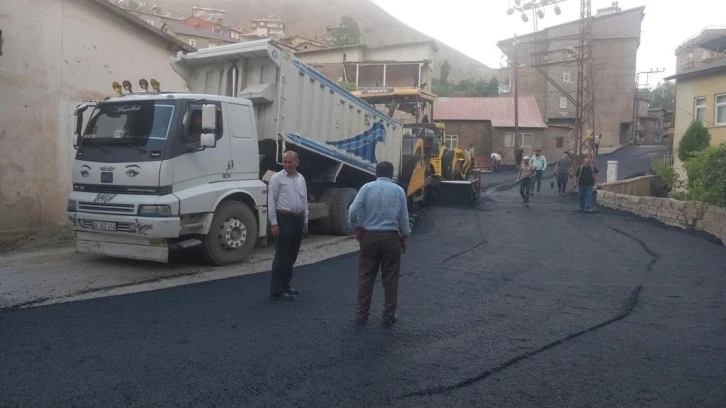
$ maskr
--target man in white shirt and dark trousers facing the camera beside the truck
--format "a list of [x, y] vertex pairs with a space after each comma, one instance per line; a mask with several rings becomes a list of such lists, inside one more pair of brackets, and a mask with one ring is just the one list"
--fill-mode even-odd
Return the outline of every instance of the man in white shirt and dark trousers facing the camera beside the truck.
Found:
[[270, 284], [270, 297], [274, 300], [293, 300], [300, 294], [290, 287], [302, 236], [308, 233], [308, 190], [305, 178], [297, 172], [299, 164], [296, 152], [285, 152], [283, 169], [270, 178], [267, 187], [267, 211], [272, 235], [277, 238]]

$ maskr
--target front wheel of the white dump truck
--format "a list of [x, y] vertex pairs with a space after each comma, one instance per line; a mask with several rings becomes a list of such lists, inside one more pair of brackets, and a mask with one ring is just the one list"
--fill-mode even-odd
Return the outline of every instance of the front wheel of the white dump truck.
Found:
[[239, 201], [223, 202], [204, 237], [202, 255], [217, 266], [241, 262], [255, 248], [258, 231], [255, 214], [248, 206]]

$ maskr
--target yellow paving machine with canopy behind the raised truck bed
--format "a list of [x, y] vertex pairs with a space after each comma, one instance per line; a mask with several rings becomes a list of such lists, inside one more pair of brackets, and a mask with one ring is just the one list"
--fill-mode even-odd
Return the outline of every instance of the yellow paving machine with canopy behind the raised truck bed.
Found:
[[473, 158], [462, 149], [447, 144], [446, 127], [430, 123], [433, 102], [437, 96], [419, 88], [368, 88], [353, 92], [378, 109], [388, 108], [393, 117], [396, 111], [408, 113], [412, 119], [405, 123], [400, 184], [406, 190], [411, 205], [426, 204], [433, 199], [441, 204], [473, 205], [480, 196], [480, 174], [474, 169]]

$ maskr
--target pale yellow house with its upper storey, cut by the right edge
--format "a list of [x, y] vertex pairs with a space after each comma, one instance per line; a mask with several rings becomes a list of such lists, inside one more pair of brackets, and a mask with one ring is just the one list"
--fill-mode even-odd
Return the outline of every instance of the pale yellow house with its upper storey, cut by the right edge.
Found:
[[678, 144], [694, 120], [711, 134], [711, 145], [726, 142], [726, 28], [706, 28], [676, 49], [676, 110], [673, 158], [676, 170], [685, 176], [678, 159]]

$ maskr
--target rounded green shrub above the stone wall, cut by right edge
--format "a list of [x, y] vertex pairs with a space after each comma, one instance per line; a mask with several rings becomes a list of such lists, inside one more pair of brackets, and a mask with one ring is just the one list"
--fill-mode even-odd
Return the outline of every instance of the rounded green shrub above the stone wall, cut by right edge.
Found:
[[692, 200], [726, 207], [726, 144], [693, 153], [684, 166]]

